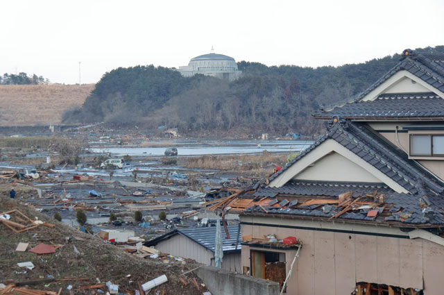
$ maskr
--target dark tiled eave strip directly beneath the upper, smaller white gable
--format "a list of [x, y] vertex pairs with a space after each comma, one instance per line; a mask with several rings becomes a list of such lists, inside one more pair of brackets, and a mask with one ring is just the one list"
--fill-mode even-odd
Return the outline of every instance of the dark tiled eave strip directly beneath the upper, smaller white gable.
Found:
[[338, 106], [314, 117], [353, 118], [411, 118], [444, 117], [444, 99], [434, 93], [384, 94], [374, 101], [356, 101]]

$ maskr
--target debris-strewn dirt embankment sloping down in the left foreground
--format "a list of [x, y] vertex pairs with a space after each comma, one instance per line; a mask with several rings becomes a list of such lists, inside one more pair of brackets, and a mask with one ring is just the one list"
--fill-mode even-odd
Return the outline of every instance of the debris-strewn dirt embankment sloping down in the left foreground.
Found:
[[[49, 275], [56, 279], [88, 278], [87, 281], [53, 282], [49, 283], [49, 286], [45, 286], [48, 283], [40, 283], [30, 288], [58, 292], [58, 289], [62, 287], [61, 294], [68, 294], [67, 287], [72, 285], [74, 294], [92, 294], [90, 290], [78, 288], [81, 285], [96, 285], [98, 280], [101, 283], [110, 280], [119, 285], [119, 292], [135, 294], [135, 289], [139, 289], [138, 283], [144, 284], [148, 280], [165, 274], [168, 282], [155, 287], [151, 290], [151, 294], [156, 294], [157, 290], [160, 290], [160, 294], [202, 293], [202, 290], [198, 290], [191, 283], [191, 280], [195, 278], [192, 271], [182, 275], [196, 267], [196, 264], [182, 264], [174, 259], [167, 263], [155, 262], [149, 258], [139, 258], [137, 255], [126, 253], [111, 244], [105, 244], [99, 237], [81, 233], [76, 228], [46, 217], [30, 206], [19, 204], [15, 199], [9, 198], [9, 189], [9, 183], [0, 183], [0, 213], [18, 209], [31, 219], [37, 217], [42, 221], [55, 224], [55, 227], [38, 226], [22, 233], [15, 233], [0, 223], [0, 283], [8, 285], [48, 278]], [[27, 192], [21, 187], [17, 187], [16, 190], [17, 196]], [[40, 243], [61, 245], [61, 247], [56, 250], [56, 253], [37, 255], [29, 251], [15, 251], [19, 242], [29, 243], [28, 249]], [[29, 270], [17, 266], [17, 262], [28, 261], [33, 262], [34, 269]], [[187, 286], [180, 281], [180, 278], [188, 283]], [[106, 292], [106, 287], [103, 290]]]

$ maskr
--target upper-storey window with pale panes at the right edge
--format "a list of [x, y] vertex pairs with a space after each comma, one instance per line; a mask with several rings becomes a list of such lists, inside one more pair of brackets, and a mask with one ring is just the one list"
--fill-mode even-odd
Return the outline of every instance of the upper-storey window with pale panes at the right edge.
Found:
[[410, 155], [429, 157], [444, 156], [444, 135], [410, 135]]

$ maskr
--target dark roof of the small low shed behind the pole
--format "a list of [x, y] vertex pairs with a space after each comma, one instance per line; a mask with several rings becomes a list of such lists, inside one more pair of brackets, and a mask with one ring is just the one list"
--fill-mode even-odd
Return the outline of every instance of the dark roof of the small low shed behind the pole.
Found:
[[[241, 251], [241, 232], [239, 232], [239, 241], [237, 241], [237, 250], [236, 250], [236, 239], [237, 239], [237, 230], [239, 226], [227, 226], [228, 233], [230, 233], [230, 239], [226, 239], [227, 235], [225, 234], [225, 230], [223, 227], [222, 231], [222, 248], [223, 251]], [[207, 228], [180, 228], [173, 230], [169, 233], [161, 235], [160, 237], [156, 237], [151, 241], [146, 242], [145, 246], [155, 246], [159, 242], [164, 239], [168, 239], [173, 235], [185, 235], [189, 239], [192, 239], [194, 242], [200, 244], [201, 246], [207, 248], [208, 250], [214, 253], [214, 239], [216, 237], [216, 226], [210, 226]]]

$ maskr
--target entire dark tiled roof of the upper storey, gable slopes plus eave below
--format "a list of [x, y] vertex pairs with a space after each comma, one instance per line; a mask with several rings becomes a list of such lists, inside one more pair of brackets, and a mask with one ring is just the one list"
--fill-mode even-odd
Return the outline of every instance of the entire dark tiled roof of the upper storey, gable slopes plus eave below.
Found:
[[[321, 110], [321, 112], [318, 112], [314, 114], [314, 117], [319, 118], [330, 118], [335, 115], [338, 115], [339, 117], [391, 117], [391, 113], [396, 113], [395, 108], [391, 108], [389, 112], [386, 112], [383, 116], [376, 116], [373, 114], [373, 111], [381, 111], [380, 107], [383, 103], [382, 101], [379, 101], [379, 99], [376, 99], [375, 101], [369, 101], [365, 105], [362, 105], [361, 99], [364, 98], [368, 93], [375, 90], [376, 87], [384, 83], [388, 80], [391, 76], [396, 74], [398, 71], [406, 70], [409, 71], [411, 74], [415, 75], [416, 77], [420, 78], [422, 81], [425, 81], [425, 83], [432, 85], [436, 89], [440, 90], [441, 92], [444, 92], [444, 54], [417, 54], [413, 51], [407, 49], [402, 53], [402, 60], [393, 67], [390, 71], [388, 71], [387, 74], [385, 74], [382, 78], [379, 78], [378, 81], [373, 83], [368, 89], [366, 89], [364, 92], [361, 92], [357, 94], [357, 96], [352, 97], [352, 99], [348, 99], [347, 101], [343, 101], [342, 103], [337, 103], [336, 107], [330, 107], [330, 108], [324, 108]], [[358, 103], [359, 102], [359, 103]], [[439, 101], [430, 101], [427, 102], [424, 109], [422, 109], [422, 106], [418, 106], [418, 112], [413, 112], [412, 115], [409, 115], [409, 112], [405, 112], [404, 115], [407, 115], [407, 117], [436, 117], [436, 115], [429, 115], [430, 107], [433, 103], [438, 103]], [[442, 102], [442, 101], [441, 101]], [[350, 104], [356, 104], [358, 103], [359, 106], [353, 106], [349, 107]], [[371, 103], [379, 103], [379, 108], [373, 108], [370, 107]], [[385, 102], [388, 103], [388, 102]], [[401, 101], [401, 100], [395, 100], [391, 103], [399, 103], [400, 108], [404, 109], [406, 108], [407, 103], [412, 103], [412, 101]], [[345, 108], [347, 106], [347, 108]], [[362, 107], [366, 106], [366, 108], [371, 108], [369, 113], [366, 110], [362, 110]], [[393, 106], [392, 104], [388, 106]], [[398, 106], [398, 105], [397, 105]], [[409, 105], [410, 106], [410, 105]], [[384, 104], [383, 107], [386, 107]], [[343, 112], [339, 112], [339, 108], [344, 108]], [[413, 109], [413, 107], [411, 108]], [[443, 107], [441, 106], [441, 110]], [[338, 114], [336, 114], [338, 112]], [[443, 116], [444, 112], [441, 112], [439, 117]], [[371, 114], [371, 115], [370, 115]], [[379, 112], [378, 115], [382, 115], [384, 112]], [[341, 115], [341, 116], [340, 116]], [[402, 116], [396, 116], [396, 117], [402, 117]]]

